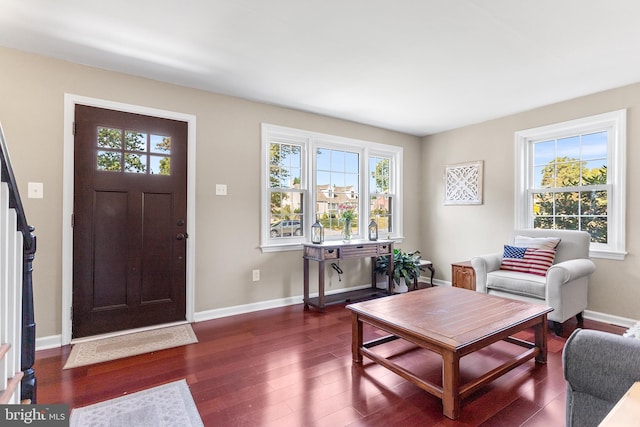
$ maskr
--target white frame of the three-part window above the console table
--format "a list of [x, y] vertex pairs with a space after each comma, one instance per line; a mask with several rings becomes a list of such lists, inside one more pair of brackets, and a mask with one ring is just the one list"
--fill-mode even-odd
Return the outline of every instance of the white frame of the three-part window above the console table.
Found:
[[[292, 236], [286, 239], [271, 238], [270, 231], [270, 191], [269, 191], [269, 147], [272, 141], [289, 141], [303, 146], [302, 152], [302, 177], [300, 189], [304, 194], [303, 213], [304, 232], [300, 237]], [[380, 144], [371, 141], [363, 141], [352, 138], [345, 138], [335, 135], [328, 135], [318, 132], [311, 132], [301, 129], [288, 128], [272, 124], [262, 124], [262, 150], [261, 150], [261, 219], [260, 219], [260, 249], [263, 252], [278, 252], [286, 250], [296, 250], [302, 248], [302, 243], [311, 241], [311, 225], [315, 221], [316, 208], [316, 188], [315, 188], [315, 170], [316, 170], [316, 150], [318, 148], [347, 150], [357, 152], [360, 163], [360, 203], [358, 212], [358, 230], [359, 234], [354, 236], [356, 239], [366, 239], [367, 226], [369, 224], [369, 156], [386, 157], [390, 160], [390, 179], [392, 181], [392, 190], [389, 193], [393, 195], [392, 211], [394, 213], [392, 220], [391, 236], [381, 235], [380, 238], [391, 238], [395, 241], [402, 241], [402, 158], [403, 148]], [[334, 237], [339, 240], [338, 236]], [[331, 238], [325, 236], [325, 240]]]

